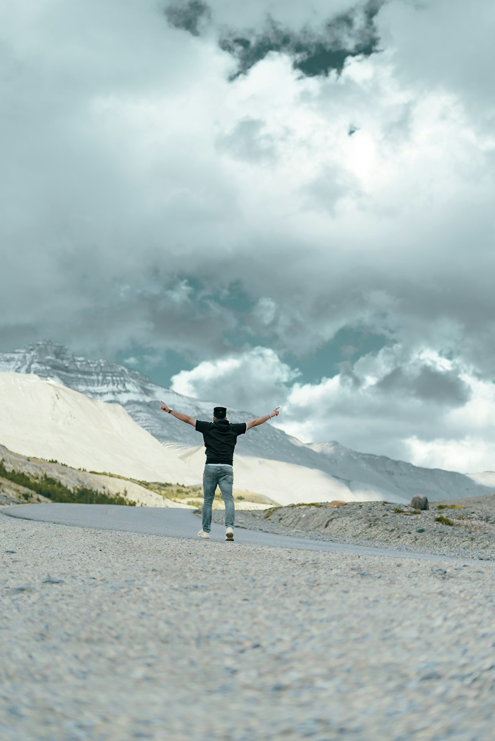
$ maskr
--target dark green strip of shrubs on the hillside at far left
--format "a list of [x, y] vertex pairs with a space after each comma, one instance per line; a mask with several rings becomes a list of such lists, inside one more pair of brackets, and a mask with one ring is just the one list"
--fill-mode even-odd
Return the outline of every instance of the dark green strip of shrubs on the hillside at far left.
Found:
[[70, 502], [87, 505], [136, 506], [136, 502], [130, 502], [129, 499], [124, 499], [124, 497], [119, 496], [119, 494], [110, 496], [109, 494], [103, 494], [101, 491], [94, 491], [86, 486], [77, 489], [70, 489], [67, 486], [64, 486], [57, 479], [52, 479], [50, 476], [47, 476], [46, 473], [44, 476], [41, 476], [41, 478], [36, 478], [35, 476], [30, 476], [28, 473], [23, 473], [22, 471], [7, 471], [3, 458], [0, 461], [0, 477], [13, 482], [14, 484], [24, 486], [25, 488], [36, 492], [36, 494], [46, 496], [47, 499], [51, 499], [52, 502]]

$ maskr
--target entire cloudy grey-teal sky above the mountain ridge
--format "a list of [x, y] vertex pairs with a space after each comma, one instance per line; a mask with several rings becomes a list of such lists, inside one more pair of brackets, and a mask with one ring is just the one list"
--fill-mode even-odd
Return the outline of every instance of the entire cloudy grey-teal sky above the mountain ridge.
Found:
[[494, 470], [494, 31], [491, 0], [0, 0], [0, 350]]

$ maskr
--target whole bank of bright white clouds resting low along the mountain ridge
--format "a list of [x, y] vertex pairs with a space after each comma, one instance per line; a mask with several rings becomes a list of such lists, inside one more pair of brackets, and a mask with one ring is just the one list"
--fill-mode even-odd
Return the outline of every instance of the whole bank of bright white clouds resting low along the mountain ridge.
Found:
[[[400, 346], [383, 348], [305, 383], [273, 350], [255, 348], [182, 371], [172, 388], [256, 414], [280, 405], [273, 424], [302, 442], [337, 440], [428, 468], [493, 468], [494, 384], [431, 350], [407, 356]], [[404, 370], [391, 371], [400, 363]]]

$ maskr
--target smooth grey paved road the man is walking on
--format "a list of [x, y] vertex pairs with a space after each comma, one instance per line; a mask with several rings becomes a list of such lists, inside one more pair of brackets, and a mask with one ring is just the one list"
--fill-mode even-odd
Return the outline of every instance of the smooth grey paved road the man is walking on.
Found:
[[[42, 504], [13, 505], [1, 507], [0, 512], [21, 519], [39, 522], [56, 522], [77, 528], [99, 528], [132, 533], [164, 535], [172, 538], [197, 538], [201, 527], [198, 516], [190, 510], [153, 507], [124, 507], [119, 505], [76, 505]], [[225, 528], [212, 522], [211, 537], [225, 540]], [[408, 553], [388, 548], [368, 548], [328, 540], [309, 540], [290, 535], [275, 535], [261, 531], [236, 528], [236, 542], [249, 545], [269, 545], [281, 548], [298, 548], [305, 551], [341, 551], [369, 556], [391, 556], [393, 558], [458, 560], [448, 556]], [[227, 544], [226, 544], [227, 545]], [[228, 544], [228, 547], [233, 547]], [[463, 561], [471, 559], [462, 558]], [[477, 562], [477, 561], [476, 561]]]

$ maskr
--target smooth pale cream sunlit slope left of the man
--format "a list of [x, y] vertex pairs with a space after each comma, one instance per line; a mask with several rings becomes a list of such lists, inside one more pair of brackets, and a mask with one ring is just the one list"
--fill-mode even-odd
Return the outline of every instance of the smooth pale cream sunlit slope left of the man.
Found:
[[142, 481], [198, 483], [118, 404], [39, 376], [0, 373], [0, 443], [14, 453]]

